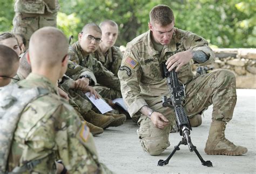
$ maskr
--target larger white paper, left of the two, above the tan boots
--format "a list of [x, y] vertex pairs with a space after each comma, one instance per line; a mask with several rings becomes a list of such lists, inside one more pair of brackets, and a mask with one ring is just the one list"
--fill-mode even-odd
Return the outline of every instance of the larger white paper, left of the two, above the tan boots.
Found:
[[96, 99], [94, 95], [91, 95], [91, 97], [89, 97], [90, 92], [86, 92], [85, 95], [102, 114], [113, 110], [112, 107], [107, 104], [102, 98]]

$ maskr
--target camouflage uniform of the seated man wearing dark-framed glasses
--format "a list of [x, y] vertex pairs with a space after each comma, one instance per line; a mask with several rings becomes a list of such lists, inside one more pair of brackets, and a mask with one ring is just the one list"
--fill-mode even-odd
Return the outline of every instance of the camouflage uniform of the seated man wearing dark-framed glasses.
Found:
[[108, 71], [92, 54], [84, 56], [83, 49], [78, 41], [70, 47], [69, 53], [70, 61], [66, 75], [75, 80], [83, 75], [89, 75], [92, 78], [90, 85], [99, 83], [107, 87], [98, 91], [99, 95], [103, 98], [115, 99], [122, 97], [118, 77], [115, 77], [113, 73]]

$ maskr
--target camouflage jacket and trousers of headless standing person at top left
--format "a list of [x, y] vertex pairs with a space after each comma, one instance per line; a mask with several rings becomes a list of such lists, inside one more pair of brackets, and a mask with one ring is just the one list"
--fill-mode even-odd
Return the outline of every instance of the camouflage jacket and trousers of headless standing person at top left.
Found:
[[58, 0], [16, 0], [14, 11], [12, 32], [23, 34], [29, 43], [31, 35], [39, 28], [57, 26], [59, 3]]

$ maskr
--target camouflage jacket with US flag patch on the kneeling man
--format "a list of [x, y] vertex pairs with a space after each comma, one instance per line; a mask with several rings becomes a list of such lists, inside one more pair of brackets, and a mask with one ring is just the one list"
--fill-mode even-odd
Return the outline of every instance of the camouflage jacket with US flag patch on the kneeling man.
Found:
[[[185, 50], [202, 50], [210, 56], [203, 64], [211, 63], [215, 59], [207, 41], [191, 32], [174, 28], [170, 44], [165, 45], [161, 53], [154, 49], [150, 35], [150, 31], [147, 31], [127, 44], [122, 65], [118, 71], [122, 96], [131, 116], [136, 114], [142, 106], [159, 103], [163, 95], [169, 94], [160, 64], [171, 55]], [[181, 68], [178, 78], [182, 84], [194, 78], [190, 63]]]

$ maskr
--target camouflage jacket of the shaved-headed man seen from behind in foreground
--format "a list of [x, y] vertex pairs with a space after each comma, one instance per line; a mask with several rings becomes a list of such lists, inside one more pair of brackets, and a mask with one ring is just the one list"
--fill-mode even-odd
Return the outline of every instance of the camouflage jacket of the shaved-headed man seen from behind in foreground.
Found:
[[98, 162], [89, 129], [73, 108], [57, 95], [55, 85], [36, 74], [30, 74], [19, 85], [24, 88], [40, 86], [52, 93], [24, 108], [9, 155], [9, 171], [41, 159], [30, 172], [55, 173], [55, 160], [62, 159], [70, 173], [111, 173]]

